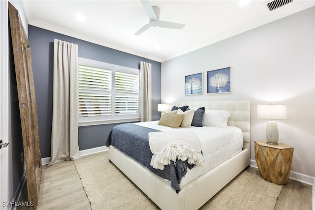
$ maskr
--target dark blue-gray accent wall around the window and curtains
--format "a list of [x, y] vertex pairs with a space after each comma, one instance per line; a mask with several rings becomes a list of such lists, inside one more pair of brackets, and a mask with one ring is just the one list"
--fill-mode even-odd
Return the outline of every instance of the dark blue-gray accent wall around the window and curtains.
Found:
[[[42, 158], [50, 157], [53, 104], [53, 45], [54, 38], [78, 45], [80, 58], [97, 60], [139, 69], [139, 62], [152, 63], [152, 120], [159, 120], [158, 103], [161, 101], [161, 63], [91, 42], [66, 36], [29, 25], [32, 50], [34, 85], [39, 123]], [[105, 146], [109, 131], [116, 124], [79, 127], [79, 149], [87, 150]]]

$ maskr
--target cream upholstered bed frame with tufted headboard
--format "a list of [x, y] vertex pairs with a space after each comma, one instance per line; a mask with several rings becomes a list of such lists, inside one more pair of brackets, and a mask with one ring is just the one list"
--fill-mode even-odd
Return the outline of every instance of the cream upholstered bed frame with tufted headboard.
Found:
[[164, 180], [120, 150], [110, 146], [109, 160], [114, 163], [162, 210], [197, 210], [233, 180], [250, 164], [250, 102], [249, 101], [189, 101], [175, 106], [205, 107], [230, 113], [228, 125], [243, 132], [243, 150], [207, 173], [192, 180], [176, 194], [170, 182]]

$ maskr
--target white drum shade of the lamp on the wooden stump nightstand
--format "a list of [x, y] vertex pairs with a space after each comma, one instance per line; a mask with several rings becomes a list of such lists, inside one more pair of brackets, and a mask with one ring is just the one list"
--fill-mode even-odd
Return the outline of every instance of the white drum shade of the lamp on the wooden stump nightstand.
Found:
[[285, 120], [286, 105], [284, 104], [260, 104], [257, 105], [257, 118], [269, 120]]

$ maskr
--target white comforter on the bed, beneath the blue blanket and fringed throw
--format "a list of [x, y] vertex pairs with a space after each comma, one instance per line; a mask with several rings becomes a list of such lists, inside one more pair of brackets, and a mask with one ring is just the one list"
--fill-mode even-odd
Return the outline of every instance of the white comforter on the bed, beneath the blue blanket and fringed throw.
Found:
[[180, 127], [176, 129], [158, 125], [158, 121], [137, 122], [135, 124], [161, 131], [192, 131], [199, 137], [204, 157], [204, 166], [195, 166], [189, 170], [185, 178], [181, 181], [181, 186], [184, 186], [221, 162], [239, 153], [243, 148], [243, 133], [241, 129], [233, 126], [227, 126], [226, 128], [191, 126], [190, 128]]

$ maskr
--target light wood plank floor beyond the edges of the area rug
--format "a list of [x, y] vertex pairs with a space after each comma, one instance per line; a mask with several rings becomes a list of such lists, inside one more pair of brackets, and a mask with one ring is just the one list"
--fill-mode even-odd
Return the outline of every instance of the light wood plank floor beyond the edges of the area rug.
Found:
[[[249, 167], [246, 171], [259, 174], [254, 167]], [[39, 193], [37, 210], [91, 210], [72, 161], [63, 161], [50, 167], [44, 165]], [[26, 186], [20, 201], [27, 201]], [[275, 210], [312, 210], [312, 185], [290, 179], [283, 186]]]

